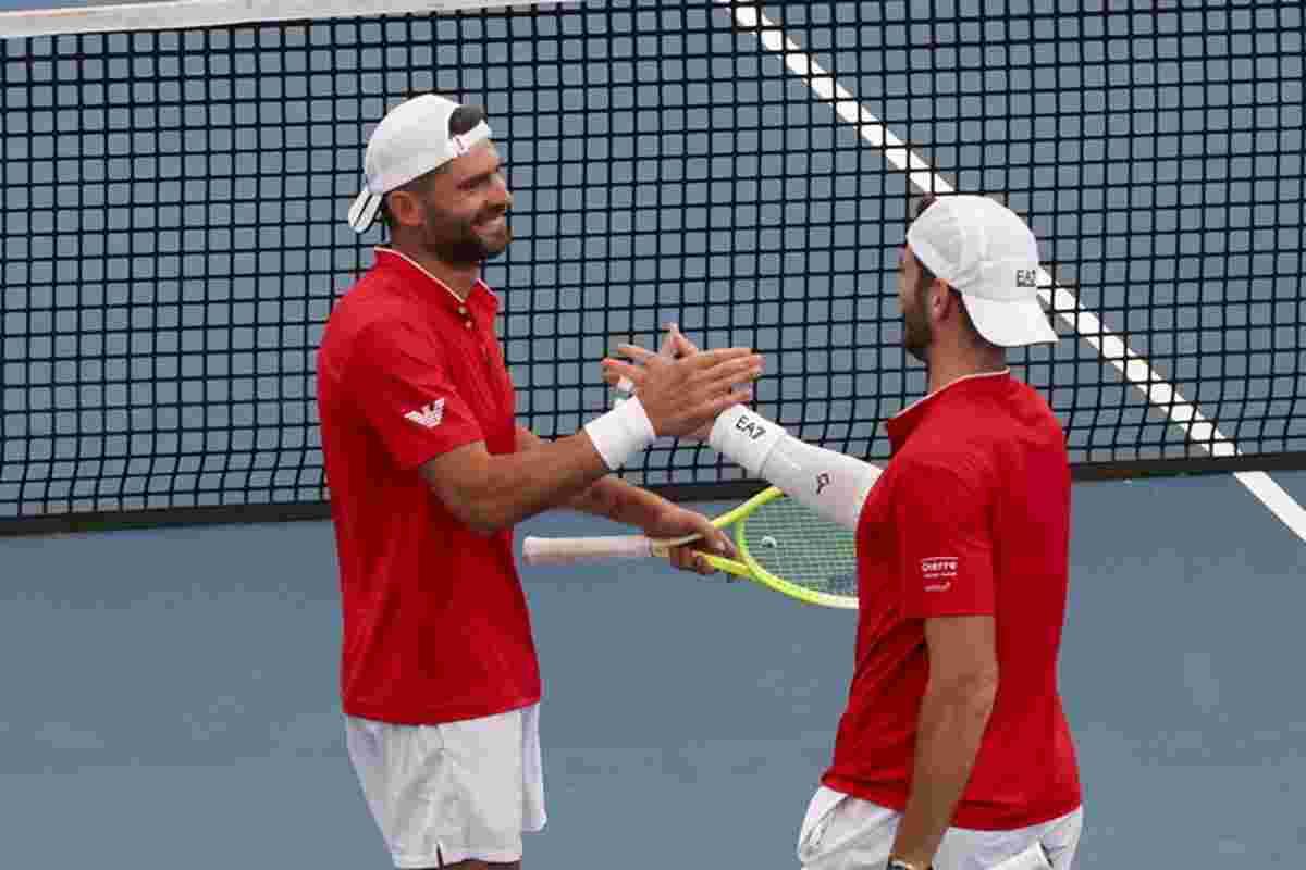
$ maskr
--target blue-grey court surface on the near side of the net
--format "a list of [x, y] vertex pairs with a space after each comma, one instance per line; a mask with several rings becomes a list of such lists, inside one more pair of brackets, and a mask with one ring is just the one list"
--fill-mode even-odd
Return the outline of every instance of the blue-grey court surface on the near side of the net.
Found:
[[[1301, 540], [1226, 476], [1080, 484], [1074, 511], [1079, 866], [1306, 866]], [[329, 524], [7, 539], [0, 566], [5, 866], [388, 866], [343, 750]], [[526, 866], [795, 867], [853, 616], [654, 562], [522, 575], [550, 814]]]

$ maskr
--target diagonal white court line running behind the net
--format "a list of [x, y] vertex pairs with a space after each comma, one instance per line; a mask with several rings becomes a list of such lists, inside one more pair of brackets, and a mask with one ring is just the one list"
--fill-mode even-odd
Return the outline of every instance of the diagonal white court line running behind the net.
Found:
[[[835, 81], [833, 76], [789, 39], [778, 25], [759, 13], [755, 5], [738, 4], [735, 0], [717, 0], [717, 3], [727, 7], [734, 4], [734, 17], [739, 27], [756, 31], [757, 38], [768, 51], [781, 55], [790, 72], [803, 78], [818, 98], [831, 103], [842, 120], [857, 127], [858, 133], [872, 147], [884, 151], [884, 158], [896, 168], [906, 172], [908, 180], [913, 185], [921, 190], [936, 193], [953, 193], [956, 190], [934, 171], [934, 167], [914, 154], [902, 140], [893, 136], [852, 93]], [[1174, 425], [1183, 429], [1191, 441], [1198, 442], [1200, 447], [1215, 457], [1242, 455], [1238, 445], [1207, 420], [1196, 406], [1179, 395], [1144, 357], [1135, 353], [1118, 334], [1106, 329], [1106, 325], [1096, 314], [1081, 308], [1079, 297], [1072, 290], [1057, 283], [1043, 269], [1040, 269], [1040, 278], [1041, 284], [1053, 286], [1051, 291], [1038, 291], [1043, 304], [1050, 305], [1102, 359], [1114, 365], [1126, 381], [1138, 387], [1148, 402], [1164, 411]], [[1298, 537], [1306, 540], [1306, 509], [1297, 503], [1269, 475], [1263, 471], [1241, 471], [1234, 477]]]

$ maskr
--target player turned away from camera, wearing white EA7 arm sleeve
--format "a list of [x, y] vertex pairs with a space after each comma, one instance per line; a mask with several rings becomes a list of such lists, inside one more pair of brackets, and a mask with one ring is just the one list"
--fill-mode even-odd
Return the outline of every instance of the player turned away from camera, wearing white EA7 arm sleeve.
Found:
[[[798, 858], [807, 870], [1067, 870], [1083, 823], [1057, 687], [1070, 466], [1057, 417], [1006, 363], [1008, 347], [1057, 340], [1038, 248], [990, 198], [922, 206], [897, 293], [930, 393], [888, 421], [883, 473], [744, 407], [709, 436], [857, 531], [855, 668]], [[641, 369], [605, 360], [610, 382], [623, 376], [643, 389]]]

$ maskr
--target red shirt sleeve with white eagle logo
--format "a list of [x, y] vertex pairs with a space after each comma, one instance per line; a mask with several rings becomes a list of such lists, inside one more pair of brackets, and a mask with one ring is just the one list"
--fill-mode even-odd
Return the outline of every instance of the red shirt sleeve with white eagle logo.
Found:
[[435, 337], [401, 322], [371, 326], [357, 338], [349, 393], [401, 468], [485, 441], [449, 377], [447, 352]]

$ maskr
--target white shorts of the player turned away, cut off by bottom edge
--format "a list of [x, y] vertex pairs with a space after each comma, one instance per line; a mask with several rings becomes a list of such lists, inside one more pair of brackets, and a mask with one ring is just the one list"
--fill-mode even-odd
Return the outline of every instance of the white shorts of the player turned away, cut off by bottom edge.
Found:
[[[807, 806], [798, 835], [798, 861], [806, 870], [878, 870], [888, 861], [900, 818], [902, 814], [896, 810], [823, 785]], [[1071, 870], [1083, 828], [1084, 807], [1013, 831], [948, 828], [934, 856], [934, 866], [935, 870], [994, 870], [1041, 843], [1054, 870]]]

